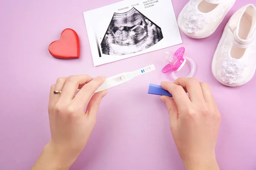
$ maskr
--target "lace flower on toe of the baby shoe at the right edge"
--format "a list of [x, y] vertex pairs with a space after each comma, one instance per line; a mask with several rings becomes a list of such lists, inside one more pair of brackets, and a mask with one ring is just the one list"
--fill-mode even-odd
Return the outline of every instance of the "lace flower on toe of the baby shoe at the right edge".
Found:
[[243, 70], [244, 66], [238, 61], [238, 59], [229, 58], [223, 62], [219, 76], [223, 82], [232, 84], [239, 79]]

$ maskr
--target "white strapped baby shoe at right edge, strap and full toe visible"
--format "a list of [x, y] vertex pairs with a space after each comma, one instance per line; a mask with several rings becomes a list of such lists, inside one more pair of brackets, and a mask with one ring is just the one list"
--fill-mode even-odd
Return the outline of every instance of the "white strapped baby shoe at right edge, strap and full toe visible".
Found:
[[256, 8], [249, 4], [230, 18], [212, 61], [214, 77], [224, 85], [244, 85], [256, 70]]

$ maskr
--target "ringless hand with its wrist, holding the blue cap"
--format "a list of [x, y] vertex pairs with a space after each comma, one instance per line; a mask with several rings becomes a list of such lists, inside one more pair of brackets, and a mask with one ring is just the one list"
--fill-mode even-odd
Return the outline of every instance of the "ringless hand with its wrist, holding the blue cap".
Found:
[[173, 95], [161, 96], [161, 100], [168, 108], [172, 136], [186, 170], [219, 170], [215, 145], [221, 114], [209, 85], [179, 78], [161, 86]]

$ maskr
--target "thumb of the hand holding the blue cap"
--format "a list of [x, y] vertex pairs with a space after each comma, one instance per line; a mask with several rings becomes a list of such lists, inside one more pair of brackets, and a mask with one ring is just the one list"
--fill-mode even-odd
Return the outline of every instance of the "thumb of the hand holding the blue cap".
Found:
[[175, 126], [177, 124], [179, 114], [174, 99], [169, 96], [161, 96], [160, 99], [166, 104], [168, 109], [171, 127]]

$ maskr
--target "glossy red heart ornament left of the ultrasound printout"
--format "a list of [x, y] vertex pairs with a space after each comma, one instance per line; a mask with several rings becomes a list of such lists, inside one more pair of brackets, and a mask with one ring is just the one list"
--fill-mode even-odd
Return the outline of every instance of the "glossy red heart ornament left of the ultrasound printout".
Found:
[[76, 31], [67, 28], [61, 33], [61, 39], [49, 45], [50, 54], [59, 59], [78, 59], [80, 57], [80, 43]]

